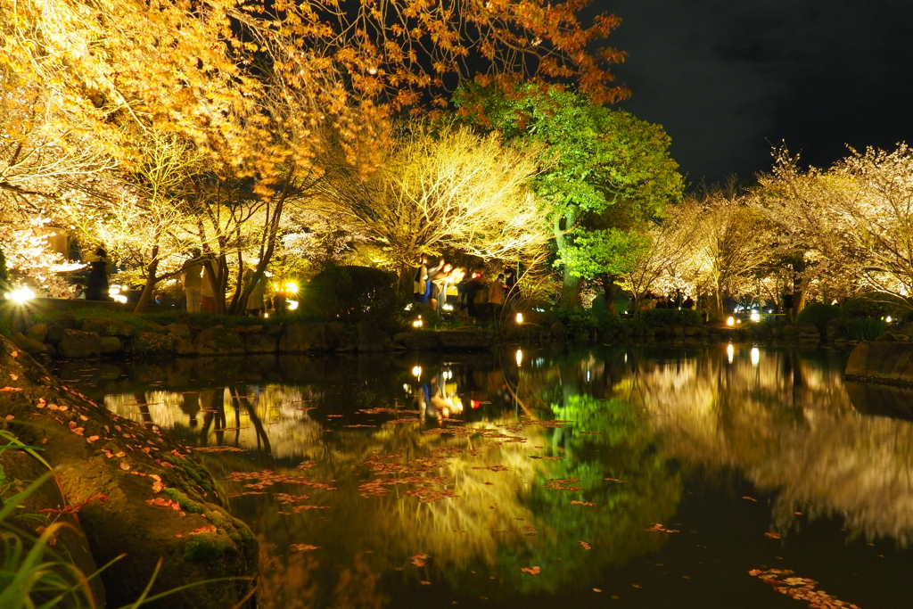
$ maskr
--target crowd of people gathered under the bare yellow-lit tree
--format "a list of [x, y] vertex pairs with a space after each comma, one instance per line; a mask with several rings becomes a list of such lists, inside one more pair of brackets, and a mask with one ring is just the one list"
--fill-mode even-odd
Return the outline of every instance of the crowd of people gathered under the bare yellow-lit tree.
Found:
[[438, 313], [466, 311], [476, 320], [481, 317], [497, 318], [500, 310], [517, 294], [514, 271], [506, 270], [488, 281], [485, 269], [454, 267], [444, 257], [435, 264], [427, 256], [419, 259], [413, 278], [415, 301], [430, 305]]

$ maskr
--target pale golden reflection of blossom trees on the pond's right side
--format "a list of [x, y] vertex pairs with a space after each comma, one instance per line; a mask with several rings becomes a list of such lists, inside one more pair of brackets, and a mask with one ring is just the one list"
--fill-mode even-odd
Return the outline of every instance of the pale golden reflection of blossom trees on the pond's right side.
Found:
[[744, 355], [639, 371], [626, 391], [654, 417], [663, 454], [744, 470], [776, 492], [772, 526], [781, 532], [802, 511], [843, 517], [851, 537], [913, 541], [913, 425], [859, 414], [842, 371], [826, 362], [764, 352], [755, 366]]

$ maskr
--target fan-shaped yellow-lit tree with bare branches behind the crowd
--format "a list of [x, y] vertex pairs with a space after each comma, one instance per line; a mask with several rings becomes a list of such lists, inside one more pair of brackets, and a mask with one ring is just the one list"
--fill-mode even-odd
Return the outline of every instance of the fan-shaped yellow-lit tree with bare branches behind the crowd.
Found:
[[494, 134], [415, 123], [367, 180], [344, 164], [328, 172], [312, 205], [381, 247], [405, 285], [422, 253], [506, 258], [541, 249], [547, 210], [529, 188], [535, 172], [534, 158]]

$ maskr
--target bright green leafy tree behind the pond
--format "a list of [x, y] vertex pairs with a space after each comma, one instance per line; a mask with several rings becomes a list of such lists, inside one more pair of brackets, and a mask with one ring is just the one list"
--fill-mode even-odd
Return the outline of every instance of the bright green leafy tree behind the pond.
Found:
[[552, 208], [562, 306], [580, 305], [583, 277], [624, 267], [629, 249], [643, 241], [637, 235], [681, 195], [682, 176], [663, 128], [579, 92], [470, 84], [456, 91], [454, 103], [464, 120], [536, 151], [535, 189]]

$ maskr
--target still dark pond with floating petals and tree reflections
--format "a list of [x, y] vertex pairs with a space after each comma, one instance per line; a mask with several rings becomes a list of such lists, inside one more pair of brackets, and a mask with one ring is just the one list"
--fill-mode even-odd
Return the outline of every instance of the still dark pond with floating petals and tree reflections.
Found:
[[897, 415], [913, 392], [845, 383], [845, 357], [642, 346], [58, 374], [196, 447], [261, 541], [261, 607], [913, 606]]

